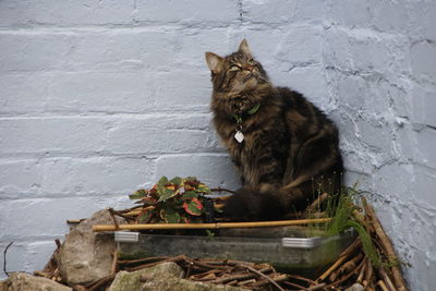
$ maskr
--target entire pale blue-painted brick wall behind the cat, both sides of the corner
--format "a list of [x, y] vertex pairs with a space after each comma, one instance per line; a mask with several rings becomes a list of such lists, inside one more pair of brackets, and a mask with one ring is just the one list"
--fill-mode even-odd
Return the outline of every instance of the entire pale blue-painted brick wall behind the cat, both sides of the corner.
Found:
[[349, 182], [374, 193], [412, 290], [432, 290], [435, 13], [407, 0], [0, 1], [9, 270], [40, 269], [65, 219], [129, 206], [162, 174], [237, 187], [209, 123], [204, 52], [246, 37], [277, 85], [338, 122]]

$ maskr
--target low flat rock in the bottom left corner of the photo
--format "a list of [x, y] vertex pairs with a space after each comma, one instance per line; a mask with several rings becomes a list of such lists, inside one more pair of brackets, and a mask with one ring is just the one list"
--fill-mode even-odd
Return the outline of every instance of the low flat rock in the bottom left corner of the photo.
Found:
[[0, 291], [72, 291], [70, 287], [53, 280], [32, 276], [25, 272], [13, 272], [9, 279], [0, 282]]

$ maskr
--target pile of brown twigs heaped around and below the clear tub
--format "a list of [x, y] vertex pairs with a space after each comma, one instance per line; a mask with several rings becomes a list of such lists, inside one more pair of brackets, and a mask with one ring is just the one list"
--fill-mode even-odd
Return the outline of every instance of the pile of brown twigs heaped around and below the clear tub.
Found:
[[[76, 286], [75, 290], [105, 290], [110, 286], [119, 270], [134, 271], [164, 262], [174, 262], [185, 271], [185, 278], [195, 281], [230, 284], [249, 290], [344, 290], [359, 284], [364, 290], [404, 291], [407, 283], [401, 275], [400, 260], [392, 244], [382, 228], [378, 218], [365, 198], [363, 207], [355, 206], [352, 219], [358, 221], [370, 234], [377, 259], [367, 255], [361, 238], [356, 238], [338, 259], [326, 267], [317, 278], [304, 278], [295, 274], [278, 272], [269, 264], [250, 262], [199, 258], [184, 255], [175, 257], [146, 257], [119, 259], [113, 254], [111, 275], [87, 286]], [[114, 214], [117, 215], [117, 214]], [[125, 216], [125, 213], [122, 214]], [[58, 242], [59, 245], [59, 242]], [[44, 271], [35, 275], [62, 281], [57, 271], [56, 260], [51, 259]], [[147, 278], [143, 278], [147, 280]]]

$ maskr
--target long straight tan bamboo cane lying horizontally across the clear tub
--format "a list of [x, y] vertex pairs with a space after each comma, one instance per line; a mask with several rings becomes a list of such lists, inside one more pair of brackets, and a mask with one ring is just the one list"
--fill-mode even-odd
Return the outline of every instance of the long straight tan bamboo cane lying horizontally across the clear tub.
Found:
[[94, 231], [116, 231], [116, 230], [147, 230], [147, 229], [230, 229], [230, 228], [266, 228], [284, 227], [311, 223], [325, 223], [331, 218], [300, 219], [300, 220], [278, 220], [258, 222], [217, 222], [217, 223], [148, 223], [148, 225], [96, 225]]

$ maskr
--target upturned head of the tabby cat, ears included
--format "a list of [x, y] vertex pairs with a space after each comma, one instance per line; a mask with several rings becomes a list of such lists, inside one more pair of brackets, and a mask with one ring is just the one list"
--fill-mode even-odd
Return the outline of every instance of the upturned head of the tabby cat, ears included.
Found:
[[254, 60], [246, 39], [241, 41], [237, 52], [227, 57], [206, 52], [206, 62], [211, 71], [215, 92], [240, 94], [269, 83], [261, 63]]

